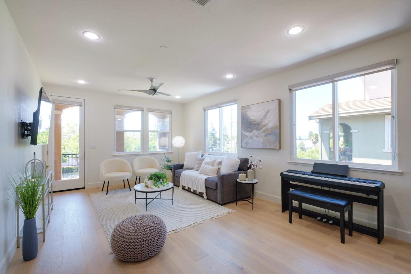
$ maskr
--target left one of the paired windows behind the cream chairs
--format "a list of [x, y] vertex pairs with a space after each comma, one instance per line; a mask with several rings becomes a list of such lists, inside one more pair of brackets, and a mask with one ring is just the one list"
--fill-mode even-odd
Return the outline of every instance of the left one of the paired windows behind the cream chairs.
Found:
[[114, 106], [115, 152], [142, 152], [143, 108]]

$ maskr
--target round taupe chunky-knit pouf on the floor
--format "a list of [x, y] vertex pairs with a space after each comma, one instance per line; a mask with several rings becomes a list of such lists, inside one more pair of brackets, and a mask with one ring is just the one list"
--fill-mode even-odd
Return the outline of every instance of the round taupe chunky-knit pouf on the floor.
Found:
[[158, 216], [140, 214], [122, 220], [111, 234], [111, 250], [125, 262], [151, 258], [166, 242], [166, 224]]

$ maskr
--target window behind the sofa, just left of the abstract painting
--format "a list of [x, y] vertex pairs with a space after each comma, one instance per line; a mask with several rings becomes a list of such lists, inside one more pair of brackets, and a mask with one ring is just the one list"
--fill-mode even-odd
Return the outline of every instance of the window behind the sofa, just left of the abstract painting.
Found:
[[237, 154], [237, 101], [203, 108], [205, 152]]

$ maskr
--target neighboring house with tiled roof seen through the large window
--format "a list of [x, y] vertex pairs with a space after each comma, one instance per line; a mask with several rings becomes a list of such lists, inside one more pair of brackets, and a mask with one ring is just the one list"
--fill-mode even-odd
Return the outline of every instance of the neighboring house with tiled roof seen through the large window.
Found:
[[[338, 114], [339, 161], [391, 164], [391, 97], [341, 102]], [[331, 159], [332, 104], [308, 119], [318, 122], [319, 159]]]

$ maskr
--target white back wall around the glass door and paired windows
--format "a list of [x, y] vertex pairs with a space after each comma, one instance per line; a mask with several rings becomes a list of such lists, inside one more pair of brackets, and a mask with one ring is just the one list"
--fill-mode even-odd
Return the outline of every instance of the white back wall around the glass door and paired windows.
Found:
[[[100, 180], [100, 163], [109, 158], [121, 157], [129, 161], [130, 164], [139, 155], [122, 155], [113, 156], [114, 153], [114, 105], [122, 106], [136, 106], [144, 108], [144, 128], [147, 128], [147, 109], [156, 108], [173, 111], [171, 115], [171, 138], [176, 135], [183, 134], [183, 113], [184, 107], [182, 104], [173, 103], [170, 101], [161, 100], [161, 97], [150, 97], [147, 95], [145, 97], [135, 97], [129, 95], [121, 95], [106, 92], [95, 92], [81, 89], [73, 89], [71, 87], [62, 87], [58, 85], [47, 85], [44, 86], [47, 94], [51, 95], [68, 95], [72, 97], [85, 98], [85, 161], [87, 163], [87, 174], [85, 178], [85, 187], [99, 187], [102, 186], [103, 182]], [[145, 134], [145, 133], [143, 133]], [[144, 137], [145, 138], [145, 137]], [[145, 138], [146, 140], [147, 138]], [[95, 144], [96, 149], [91, 149], [90, 145]], [[171, 146], [171, 145], [170, 145]], [[170, 158], [173, 157], [175, 163], [178, 162], [178, 149], [172, 147], [172, 154], [168, 154]], [[180, 150], [181, 156], [183, 156], [183, 151]], [[155, 157], [160, 165], [162, 163], [161, 159], [164, 158], [164, 154], [148, 154], [149, 156]], [[181, 157], [180, 158], [183, 158]], [[143, 180], [143, 178], [141, 178]], [[130, 180], [131, 182], [134, 180]], [[115, 182], [110, 182], [111, 184]], [[116, 182], [121, 183], [122, 182]]]

